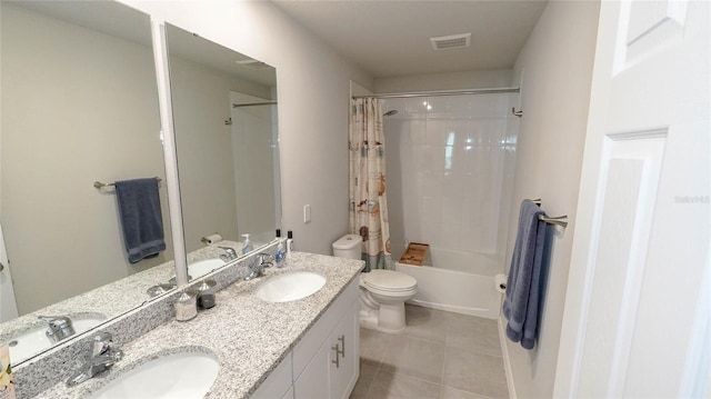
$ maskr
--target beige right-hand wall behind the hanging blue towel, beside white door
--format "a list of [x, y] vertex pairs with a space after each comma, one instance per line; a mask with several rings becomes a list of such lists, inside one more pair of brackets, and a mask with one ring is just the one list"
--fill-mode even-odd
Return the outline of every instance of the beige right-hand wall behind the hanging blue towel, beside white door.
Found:
[[571, 267], [575, 229], [572, 216], [578, 203], [598, 14], [597, 2], [549, 2], [514, 68], [515, 80], [520, 81], [521, 77], [523, 80], [521, 109], [524, 113], [519, 130], [508, 259], [515, 240], [521, 200], [541, 198], [548, 215], [571, 217], [568, 228], [557, 228], [553, 239], [535, 348], [529, 351], [507, 340], [508, 361], [519, 398], [552, 397]]

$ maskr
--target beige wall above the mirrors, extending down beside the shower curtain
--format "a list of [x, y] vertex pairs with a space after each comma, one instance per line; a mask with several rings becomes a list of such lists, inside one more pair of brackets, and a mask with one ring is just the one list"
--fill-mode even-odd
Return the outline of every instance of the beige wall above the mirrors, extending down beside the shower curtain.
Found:
[[266, 1], [122, 2], [277, 68], [283, 230], [330, 253], [348, 231], [349, 81], [372, 78]]

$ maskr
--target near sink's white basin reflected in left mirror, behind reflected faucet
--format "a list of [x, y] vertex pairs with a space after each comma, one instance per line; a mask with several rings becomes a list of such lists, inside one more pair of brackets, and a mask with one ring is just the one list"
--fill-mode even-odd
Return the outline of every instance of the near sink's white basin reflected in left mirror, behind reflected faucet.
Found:
[[[92, 329], [104, 320], [103, 316], [70, 316], [71, 325], [74, 328], [74, 335], [82, 333]], [[46, 323], [24, 331], [12, 337], [10, 342], [10, 360], [13, 365], [29, 359], [32, 356], [42, 352], [59, 342], [52, 342], [47, 337], [48, 326]], [[63, 342], [63, 341], [60, 341]]]

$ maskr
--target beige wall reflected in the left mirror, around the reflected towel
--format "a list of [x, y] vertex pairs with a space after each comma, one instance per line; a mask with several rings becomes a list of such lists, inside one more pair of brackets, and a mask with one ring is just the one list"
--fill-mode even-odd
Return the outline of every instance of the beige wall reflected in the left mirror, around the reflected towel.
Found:
[[[146, 27], [146, 37], [150, 29]], [[150, 48], [2, 4], [2, 223], [20, 313], [172, 259], [130, 265], [113, 182], [162, 177]]]

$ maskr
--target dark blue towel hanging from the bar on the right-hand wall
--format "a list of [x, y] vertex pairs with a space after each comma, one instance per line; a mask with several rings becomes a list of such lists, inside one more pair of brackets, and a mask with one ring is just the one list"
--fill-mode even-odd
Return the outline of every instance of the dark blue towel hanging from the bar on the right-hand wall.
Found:
[[538, 333], [541, 263], [545, 243], [545, 222], [538, 220], [541, 215], [545, 216], [545, 212], [531, 200], [521, 203], [519, 231], [503, 300], [503, 316], [509, 319], [507, 337], [513, 342], [521, 341], [525, 349], [533, 348]]

